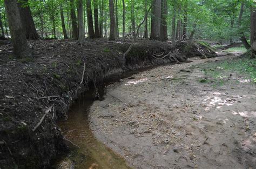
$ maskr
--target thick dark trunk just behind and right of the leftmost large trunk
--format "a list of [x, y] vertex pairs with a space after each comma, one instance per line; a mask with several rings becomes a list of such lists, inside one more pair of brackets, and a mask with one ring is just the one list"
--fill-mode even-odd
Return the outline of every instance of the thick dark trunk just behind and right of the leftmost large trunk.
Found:
[[28, 0], [23, 0], [18, 3], [18, 9], [21, 13], [21, 21], [26, 32], [27, 39], [40, 39], [35, 24], [31, 15], [30, 7], [28, 4]]

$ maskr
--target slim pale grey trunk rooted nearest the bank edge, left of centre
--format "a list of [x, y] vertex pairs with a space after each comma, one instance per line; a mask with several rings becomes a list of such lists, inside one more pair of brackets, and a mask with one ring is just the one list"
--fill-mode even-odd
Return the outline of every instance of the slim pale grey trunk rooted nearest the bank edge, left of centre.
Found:
[[78, 44], [84, 43], [84, 12], [83, 12], [83, 0], [78, 0], [78, 26], [79, 26], [79, 37], [78, 37]]

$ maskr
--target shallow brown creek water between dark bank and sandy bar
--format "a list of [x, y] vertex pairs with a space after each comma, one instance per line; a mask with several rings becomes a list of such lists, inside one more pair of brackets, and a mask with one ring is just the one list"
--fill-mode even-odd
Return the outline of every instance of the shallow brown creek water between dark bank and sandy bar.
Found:
[[57, 168], [130, 168], [122, 157], [93, 136], [87, 119], [92, 103], [91, 94], [80, 98], [70, 107], [68, 120], [59, 121], [71, 151], [58, 161]]

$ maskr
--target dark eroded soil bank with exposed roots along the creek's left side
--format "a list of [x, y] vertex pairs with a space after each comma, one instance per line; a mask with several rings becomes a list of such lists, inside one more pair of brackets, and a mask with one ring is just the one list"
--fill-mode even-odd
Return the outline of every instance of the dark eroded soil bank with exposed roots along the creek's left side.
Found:
[[[98, 97], [97, 89], [111, 75], [184, 61], [194, 55], [215, 56], [205, 46], [190, 42], [180, 42], [173, 49], [170, 43], [142, 40], [125, 59], [123, 53], [130, 43], [104, 39], [87, 40], [83, 46], [66, 40], [30, 41], [30, 46], [35, 51], [34, 60], [17, 60], [12, 57], [10, 45], [1, 46], [3, 168], [49, 167], [51, 160], [66, 150], [57, 119], [68, 117], [66, 112], [79, 93], [96, 88], [94, 94]], [[152, 57], [154, 53], [161, 57], [170, 51], [174, 53], [163, 59]]]

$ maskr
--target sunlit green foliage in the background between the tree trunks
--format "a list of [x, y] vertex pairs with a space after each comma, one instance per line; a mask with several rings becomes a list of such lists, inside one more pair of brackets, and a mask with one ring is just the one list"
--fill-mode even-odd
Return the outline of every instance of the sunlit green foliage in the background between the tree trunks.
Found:
[[[76, 35], [75, 37], [73, 35], [73, 31], [75, 31], [73, 30], [75, 29], [73, 23], [76, 23], [78, 19], [77, 0], [19, 0], [18, 3], [21, 4], [21, 8], [30, 8], [36, 31], [41, 38], [78, 38]], [[87, 0], [85, 2], [83, 0], [82, 3], [84, 4], [85, 36], [89, 36], [90, 29], [90, 22], [88, 21], [90, 17], [86, 17], [86, 15], [88, 15], [88, 12], [91, 12], [93, 29], [96, 31], [96, 25], [98, 25], [100, 37], [109, 37], [109, 1]], [[129, 37], [137, 29], [140, 22], [143, 21], [146, 10], [151, 5], [149, 0], [114, 0], [113, 3], [116, 37], [122, 37], [123, 12], [125, 14], [125, 36]], [[123, 8], [123, 3], [125, 8]], [[168, 38], [171, 39], [173, 24], [175, 24], [176, 39], [184, 38], [185, 35], [186, 38], [232, 43], [239, 41], [241, 32], [246, 39], [249, 39], [251, 3], [251, 1], [243, 0], [166, 1], [167, 12], [163, 13], [162, 16], [166, 19], [164, 25], [166, 24], [167, 26]], [[91, 8], [91, 10], [88, 10], [88, 8]], [[123, 9], [125, 10], [123, 11]], [[96, 17], [98, 17], [98, 23], [96, 23]], [[10, 37], [10, 32], [3, 0], [0, 1], [0, 19], [2, 21], [1, 35], [8, 38]], [[145, 23], [149, 30], [147, 34], [150, 34], [150, 16], [147, 17], [147, 22]], [[64, 35], [63, 26], [66, 29], [66, 35]], [[77, 23], [76, 26], [78, 27]], [[149, 35], [146, 36], [144, 31], [145, 26], [140, 26], [138, 36], [142, 38], [150, 37]], [[179, 31], [182, 34], [181, 37], [177, 35]]]

